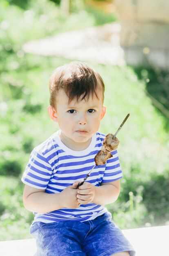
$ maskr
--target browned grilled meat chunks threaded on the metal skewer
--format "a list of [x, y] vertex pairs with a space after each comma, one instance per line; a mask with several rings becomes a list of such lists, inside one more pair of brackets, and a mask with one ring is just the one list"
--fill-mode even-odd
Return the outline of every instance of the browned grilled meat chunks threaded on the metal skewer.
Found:
[[94, 158], [96, 166], [105, 164], [107, 160], [113, 156], [110, 152], [118, 148], [119, 142], [120, 141], [117, 137], [113, 139], [112, 133], [106, 135], [103, 141], [102, 149], [96, 154]]

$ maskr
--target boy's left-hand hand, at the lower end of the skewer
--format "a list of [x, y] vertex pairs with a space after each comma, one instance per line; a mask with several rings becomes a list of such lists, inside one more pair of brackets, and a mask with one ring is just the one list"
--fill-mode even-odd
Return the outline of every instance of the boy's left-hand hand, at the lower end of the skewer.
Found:
[[[77, 182], [76, 182], [77, 183]], [[67, 186], [60, 195], [62, 194], [62, 205], [69, 209], [76, 209], [80, 206], [80, 202], [77, 200], [77, 189], [78, 184], [74, 183], [72, 186]]]

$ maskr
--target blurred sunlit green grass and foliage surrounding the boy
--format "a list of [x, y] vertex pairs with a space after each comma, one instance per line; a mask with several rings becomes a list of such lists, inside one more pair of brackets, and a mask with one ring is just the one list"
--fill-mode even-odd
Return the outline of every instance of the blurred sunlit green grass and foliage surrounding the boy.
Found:
[[[89, 6], [75, 7], [73, 2], [69, 17], [52, 1], [0, 2], [0, 240], [30, 238], [33, 214], [23, 207], [20, 179], [33, 147], [58, 129], [47, 115], [47, 84], [51, 72], [69, 62], [25, 54], [22, 45], [115, 19]], [[148, 75], [145, 71], [136, 75], [131, 67], [93, 66], [106, 85], [107, 113], [100, 131], [115, 131], [126, 114], [131, 114], [119, 133], [124, 175], [120, 197], [107, 208], [122, 229], [165, 225], [169, 222], [167, 119], [146, 95], [146, 79], [156, 81], [156, 76], [152, 74], [150, 79], [148, 70]], [[168, 79], [162, 72], [160, 76]], [[159, 97], [158, 85], [156, 88], [154, 97]]]

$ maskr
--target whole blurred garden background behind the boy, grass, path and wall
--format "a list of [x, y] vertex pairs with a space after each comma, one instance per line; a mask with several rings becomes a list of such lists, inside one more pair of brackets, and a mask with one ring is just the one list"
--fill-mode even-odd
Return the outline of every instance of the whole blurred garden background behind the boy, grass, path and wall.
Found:
[[22, 204], [31, 150], [58, 130], [47, 114], [53, 70], [89, 63], [105, 81], [100, 131], [118, 134], [121, 229], [169, 225], [169, 2], [0, 1], [0, 240], [30, 238]]

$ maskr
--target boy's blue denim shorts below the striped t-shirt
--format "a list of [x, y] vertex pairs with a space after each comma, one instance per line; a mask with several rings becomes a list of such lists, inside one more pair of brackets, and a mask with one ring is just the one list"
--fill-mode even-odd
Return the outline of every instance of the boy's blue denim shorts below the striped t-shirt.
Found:
[[33, 222], [30, 234], [36, 239], [36, 256], [110, 256], [135, 251], [108, 213], [84, 222]]

